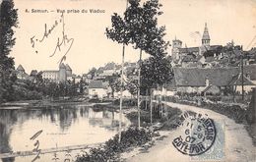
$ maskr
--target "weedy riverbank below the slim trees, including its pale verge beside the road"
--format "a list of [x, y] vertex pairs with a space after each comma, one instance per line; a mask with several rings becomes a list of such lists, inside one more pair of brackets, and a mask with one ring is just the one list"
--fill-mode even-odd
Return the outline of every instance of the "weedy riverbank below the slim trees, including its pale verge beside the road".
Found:
[[[114, 105], [114, 104], [113, 104]], [[105, 106], [96, 105], [104, 109], [112, 108], [119, 111], [119, 106], [112, 104]], [[92, 148], [87, 154], [80, 156], [77, 161], [123, 161], [130, 154], [142, 153], [155, 145], [155, 141], [162, 140], [170, 130], [175, 129], [177, 118], [181, 111], [177, 108], [168, 107], [160, 117], [159, 111], [153, 112], [153, 126], [151, 124], [150, 111], [141, 110], [141, 129], [138, 129], [137, 107], [123, 107], [123, 114], [131, 122], [131, 127], [125, 129], [121, 134], [115, 135], [104, 143], [104, 146]]]

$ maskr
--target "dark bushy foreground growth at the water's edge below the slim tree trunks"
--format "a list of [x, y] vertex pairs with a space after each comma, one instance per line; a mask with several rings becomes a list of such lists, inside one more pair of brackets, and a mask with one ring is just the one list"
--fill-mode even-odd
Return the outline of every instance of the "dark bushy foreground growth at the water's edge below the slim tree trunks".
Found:
[[107, 140], [103, 146], [91, 148], [89, 153], [86, 153], [77, 158], [77, 162], [104, 162], [115, 161], [117, 155], [124, 152], [129, 147], [140, 146], [152, 139], [152, 133], [148, 130], [130, 127], [127, 131], [121, 133], [121, 141], [118, 141], [119, 136]]

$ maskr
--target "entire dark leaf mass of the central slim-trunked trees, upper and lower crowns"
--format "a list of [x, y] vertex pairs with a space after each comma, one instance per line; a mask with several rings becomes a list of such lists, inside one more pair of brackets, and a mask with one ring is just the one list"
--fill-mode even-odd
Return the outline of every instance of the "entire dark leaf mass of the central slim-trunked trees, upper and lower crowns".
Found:
[[[134, 44], [135, 49], [139, 48], [154, 56], [144, 62], [142, 82], [146, 81], [145, 87], [162, 84], [165, 82], [162, 80], [167, 81], [168, 75], [172, 75], [170, 62], [164, 58], [168, 46], [168, 42], [163, 40], [165, 27], [158, 27], [158, 16], [162, 14], [161, 4], [159, 0], [149, 0], [143, 5], [140, 5], [140, 0], [130, 0], [129, 4], [123, 19], [116, 13], [111, 17], [112, 27], [106, 28], [107, 38], [118, 43]], [[148, 72], [153, 73], [148, 74]], [[163, 75], [160, 75], [161, 72]], [[128, 88], [132, 94], [136, 92], [135, 87], [136, 81], [129, 81]]]

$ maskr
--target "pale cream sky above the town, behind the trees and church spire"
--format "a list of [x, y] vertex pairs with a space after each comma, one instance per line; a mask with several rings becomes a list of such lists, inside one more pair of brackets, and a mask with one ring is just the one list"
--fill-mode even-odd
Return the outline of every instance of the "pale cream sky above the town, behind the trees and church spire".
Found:
[[[122, 44], [107, 39], [104, 32], [105, 27], [111, 26], [113, 13], [123, 15], [126, 0], [14, 2], [19, 9], [19, 27], [14, 28], [16, 45], [11, 52], [16, 68], [21, 64], [28, 74], [32, 70], [58, 70], [58, 61], [65, 54], [64, 63], [77, 75], [107, 62], [121, 63]], [[249, 45], [256, 36], [256, 0], [160, 0], [160, 3], [163, 14], [159, 17], [159, 25], [166, 27], [166, 41], [171, 42], [176, 37], [183, 46], [199, 46], [207, 23], [211, 45], [225, 45], [233, 40], [245, 50], [256, 46], [256, 38]], [[65, 10], [63, 16], [58, 9]], [[90, 13], [90, 9], [100, 13]], [[34, 13], [32, 10], [47, 12]], [[167, 52], [170, 54], [171, 47]], [[143, 58], [147, 57], [144, 53]], [[139, 51], [132, 46], [126, 47], [125, 61], [138, 59]]]

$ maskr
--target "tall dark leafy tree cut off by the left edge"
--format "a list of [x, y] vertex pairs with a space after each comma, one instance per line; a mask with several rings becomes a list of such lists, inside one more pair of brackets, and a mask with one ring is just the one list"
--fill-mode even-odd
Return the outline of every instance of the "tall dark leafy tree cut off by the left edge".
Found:
[[18, 27], [18, 9], [14, 9], [13, 0], [3, 0], [0, 6], [0, 102], [10, 97], [12, 86], [11, 72], [14, 60], [9, 57], [15, 45], [13, 27]]

